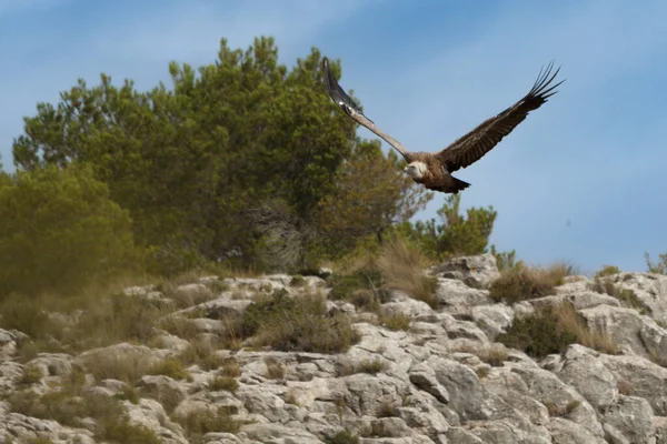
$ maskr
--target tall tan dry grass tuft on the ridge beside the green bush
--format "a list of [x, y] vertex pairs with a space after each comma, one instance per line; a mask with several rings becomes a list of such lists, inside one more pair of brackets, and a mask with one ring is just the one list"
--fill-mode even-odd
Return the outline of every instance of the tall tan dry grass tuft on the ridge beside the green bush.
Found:
[[428, 265], [420, 250], [399, 238], [385, 242], [377, 260], [377, 268], [387, 286], [406, 292], [436, 309], [436, 280], [424, 272]]

